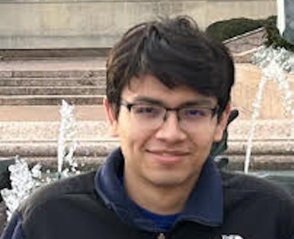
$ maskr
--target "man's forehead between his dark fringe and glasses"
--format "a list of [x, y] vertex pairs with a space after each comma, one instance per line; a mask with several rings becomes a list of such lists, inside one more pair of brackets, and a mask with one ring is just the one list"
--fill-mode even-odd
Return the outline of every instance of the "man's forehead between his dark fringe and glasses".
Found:
[[132, 78], [130, 85], [122, 90], [121, 97], [128, 101], [152, 98], [171, 107], [189, 101], [212, 106], [217, 103], [216, 97], [205, 96], [185, 85], [168, 88], [152, 75]]

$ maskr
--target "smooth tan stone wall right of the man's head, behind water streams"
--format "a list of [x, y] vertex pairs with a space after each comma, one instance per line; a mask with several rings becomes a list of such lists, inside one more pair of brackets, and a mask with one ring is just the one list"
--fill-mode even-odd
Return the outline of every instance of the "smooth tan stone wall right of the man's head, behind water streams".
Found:
[[[235, 70], [236, 83], [232, 91], [233, 107], [239, 110], [239, 119], [249, 120], [252, 117], [253, 103], [256, 98], [260, 79], [262, 79], [262, 71], [256, 65], [248, 63], [236, 64]], [[286, 77], [288, 78], [291, 92], [294, 92], [294, 75], [287, 74]], [[290, 120], [291, 115], [289, 112], [286, 112], [284, 105], [285, 94], [286, 92], [279, 88], [277, 82], [269, 80], [264, 86], [258, 119]]]

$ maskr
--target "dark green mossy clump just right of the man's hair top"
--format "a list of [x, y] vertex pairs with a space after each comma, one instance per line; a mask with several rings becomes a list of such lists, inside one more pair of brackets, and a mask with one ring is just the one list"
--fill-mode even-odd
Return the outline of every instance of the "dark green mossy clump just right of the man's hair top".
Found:
[[262, 20], [234, 18], [212, 23], [207, 27], [206, 32], [214, 39], [224, 41], [262, 26], [264, 26]]

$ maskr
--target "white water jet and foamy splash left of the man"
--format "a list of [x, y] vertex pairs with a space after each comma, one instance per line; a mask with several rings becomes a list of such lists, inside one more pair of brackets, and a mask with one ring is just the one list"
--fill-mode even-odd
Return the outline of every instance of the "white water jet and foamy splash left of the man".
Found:
[[[2, 198], [7, 207], [7, 221], [10, 220], [12, 213], [18, 208], [19, 204], [25, 200], [36, 188], [51, 183], [60, 178], [80, 174], [77, 170], [77, 161], [74, 152], [77, 148], [76, 141], [76, 122], [74, 117], [74, 106], [62, 100], [60, 108], [61, 123], [58, 134], [57, 147], [57, 173], [49, 176], [42, 175], [42, 165], [37, 163], [31, 169], [24, 159], [15, 157], [15, 163], [9, 168], [11, 189], [1, 190]], [[67, 162], [69, 167], [63, 169], [63, 163]], [[46, 172], [47, 175], [50, 172]]]

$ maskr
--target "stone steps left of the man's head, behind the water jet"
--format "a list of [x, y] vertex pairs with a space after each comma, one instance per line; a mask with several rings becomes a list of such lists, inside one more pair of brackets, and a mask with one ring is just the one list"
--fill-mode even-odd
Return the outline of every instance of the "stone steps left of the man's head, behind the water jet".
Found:
[[75, 106], [76, 157], [101, 162], [115, 146], [107, 131], [105, 57], [59, 57], [0, 61], [0, 160], [19, 155], [56, 165], [59, 109]]

